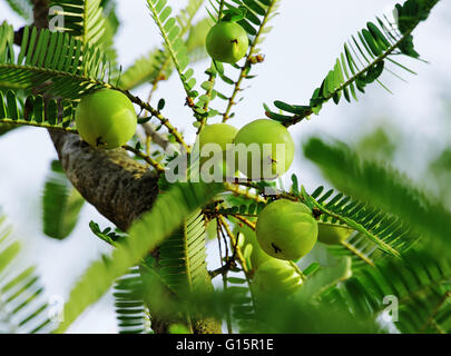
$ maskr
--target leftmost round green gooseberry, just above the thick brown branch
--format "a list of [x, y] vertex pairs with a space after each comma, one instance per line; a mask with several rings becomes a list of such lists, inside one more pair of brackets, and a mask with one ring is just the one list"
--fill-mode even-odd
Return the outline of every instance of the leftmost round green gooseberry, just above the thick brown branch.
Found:
[[131, 101], [124, 93], [101, 89], [81, 99], [76, 123], [81, 138], [90, 146], [112, 149], [134, 137], [137, 117]]

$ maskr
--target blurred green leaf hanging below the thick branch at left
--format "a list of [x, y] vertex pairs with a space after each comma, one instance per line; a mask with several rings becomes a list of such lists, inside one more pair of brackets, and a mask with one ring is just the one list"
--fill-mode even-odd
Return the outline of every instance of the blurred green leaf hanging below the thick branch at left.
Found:
[[43, 233], [55, 239], [67, 238], [77, 225], [85, 199], [66, 177], [61, 164], [51, 162], [42, 196]]

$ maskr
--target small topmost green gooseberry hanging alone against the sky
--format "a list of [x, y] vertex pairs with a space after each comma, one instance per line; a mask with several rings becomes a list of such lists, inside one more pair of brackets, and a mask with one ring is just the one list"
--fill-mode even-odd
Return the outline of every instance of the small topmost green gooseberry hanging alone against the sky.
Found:
[[249, 39], [246, 31], [236, 22], [219, 22], [208, 32], [206, 49], [214, 60], [236, 63], [247, 52]]

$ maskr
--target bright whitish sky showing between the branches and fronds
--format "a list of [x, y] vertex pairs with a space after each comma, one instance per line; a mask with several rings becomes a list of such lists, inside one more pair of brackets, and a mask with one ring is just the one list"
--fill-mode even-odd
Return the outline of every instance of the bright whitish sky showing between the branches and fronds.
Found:
[[[149, 49], [160, 43], [160, 37], [144, 0], [119, 0], [118, 14], [122, 20], [117, 38], [119, 61], [127, 68]], [[174, 9], [186, 1], [168, 1]], [[236, 108], [232, 123], [242, 127], [262, 118], [263, 102], [281, 99], [292, 103], [307, 103], [313, 89], [333, 68], [343, 42], [366, 21], [388, 13], [398, 1], [392, 0], [284, 0], [280, 16], [272, 22], [274, 30], [264, 43], [263, 65], [256, 66], [256, 79], [248, 82], [246, 99]], [[206, 12], [204, 11], [204, 14]], [[7, 19], [16, 28], [23, 26], [0, 0], [0, 21]], [[379, 86], [367, 88], [367, 93], [353, 105], [343, 102], [336, 107], [325, 106], [320, 117], [291, 129], [298, 145], [298, 160], [293, 171], [312, 189], [318, 186], [318, 175], [305, 159], [301, 158], [301, 142], [321, 132], [353, 142], [362, 132], [370, 132], [378, 125], [388, 122], [402, 128], [405, 139], [401, 145], [403, 159], [399, 167], [412, 176], [420, 175], [425, 157], [439, 152], [451, 142], [451, 128], [442, 119], [442, 98], [451, 82], [451, 6], [442, 1], [425, 23], [415, 31], [416, 50], [430, 65], [404, 61], [419, 76], [395, 69], [409, 83], [385, 75], [383, 81], [394, 92], [388, 93]], [[195, 66], [198, 82], [207, 61]], [[148, 88], [136, 91], [147, 98]], [[165, 115], [185, 129], [189, 140], [194, 138], [192, 117], [184, 107], [185, 96], [176, 76], [160, 86], [155, 100], [166, 98]], [[155, 102], [154, 102], [155, 103]], [[101, 227], [109, 222], [91, 207], [85, 207], [76, 231], [65, 241], [52, 241], [42, 236], [40, 197], [55, 149], [45, 130], [23, 128], [0, 139], [0, 207], [14, 227], [16, 235], [23, 239], [28, 260], [39, 267], [47, 294], [68, 296], [70, 286], [85, 270], [89, 261], [109, 247], [89, 230], [88, 222], [95, 219]], [[412, 169], [413, 167], [413, 169]], [[290, 174], [286, 175], [290, 179]], [[216, 255], [214, 256], [216, 258]], [[112, 298], [106, 296], [78, 319], [71, 333], [114, 333], [116, 320]]]

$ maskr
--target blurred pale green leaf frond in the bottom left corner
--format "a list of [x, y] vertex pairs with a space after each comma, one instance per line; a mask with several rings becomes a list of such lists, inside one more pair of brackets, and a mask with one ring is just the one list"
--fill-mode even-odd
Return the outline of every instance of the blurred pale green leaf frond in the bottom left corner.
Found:
[[35, 267], [19, 261], [20, 244], [10, 237], [0, 218], [0, 334], [49, 332], [49, 307]]

